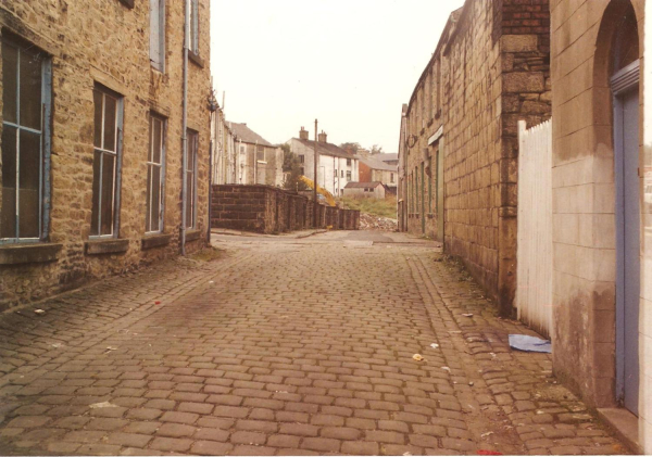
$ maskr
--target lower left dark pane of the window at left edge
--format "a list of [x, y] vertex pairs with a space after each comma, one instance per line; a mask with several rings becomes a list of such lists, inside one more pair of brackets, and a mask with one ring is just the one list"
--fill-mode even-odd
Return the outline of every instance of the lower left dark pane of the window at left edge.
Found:
[[2, 206], [0, 238], [16, 237], [16, 129], [2, 129]]

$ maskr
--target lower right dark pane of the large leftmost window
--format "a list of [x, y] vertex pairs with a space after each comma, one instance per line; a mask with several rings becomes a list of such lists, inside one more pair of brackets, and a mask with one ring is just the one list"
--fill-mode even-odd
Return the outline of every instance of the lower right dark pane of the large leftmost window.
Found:
[[40, 220], [40, 135], [21, 131], [18, 237], [38, 238]]

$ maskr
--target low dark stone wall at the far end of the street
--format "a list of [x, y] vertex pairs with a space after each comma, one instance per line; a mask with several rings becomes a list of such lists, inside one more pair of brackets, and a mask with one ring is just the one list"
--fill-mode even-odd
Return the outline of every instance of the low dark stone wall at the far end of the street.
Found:
[[[216, 185], [211, 227], [258, 233], [315, 228], [313, 205], [306, 196], [272, 186]], [[358, 230], [360, 212], [318, 204], [316, 228]]]

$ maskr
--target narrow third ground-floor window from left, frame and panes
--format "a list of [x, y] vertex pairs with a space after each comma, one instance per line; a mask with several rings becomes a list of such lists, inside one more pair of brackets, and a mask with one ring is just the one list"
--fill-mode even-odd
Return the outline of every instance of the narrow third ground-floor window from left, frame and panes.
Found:
[[150, 145], [147, 156], [147, 212], [145, 231], [163, 231], [165, 213], [165, 119], [150, 114]]

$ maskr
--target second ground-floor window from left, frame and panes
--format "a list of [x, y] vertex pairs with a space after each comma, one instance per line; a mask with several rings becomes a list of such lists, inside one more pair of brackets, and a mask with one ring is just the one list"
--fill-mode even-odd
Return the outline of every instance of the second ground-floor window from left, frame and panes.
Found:
[[122, 149], [122, 96], [96, 85], [91, 237], [117, 237]]

